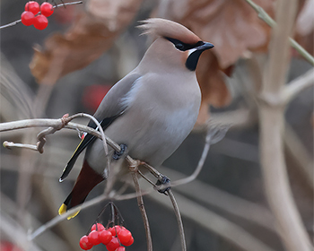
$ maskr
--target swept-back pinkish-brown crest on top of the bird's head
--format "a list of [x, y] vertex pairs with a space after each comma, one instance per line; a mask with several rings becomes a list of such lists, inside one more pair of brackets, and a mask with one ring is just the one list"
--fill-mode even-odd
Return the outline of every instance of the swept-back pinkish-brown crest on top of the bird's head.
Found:
[[150, 34], [156, 37], [178, 39], [187, 44], [196, 44], [201, 39], [187, 27], [161, 18], [151, 18], [142, 21], [138, 28], [144, 30], [142, 34]]

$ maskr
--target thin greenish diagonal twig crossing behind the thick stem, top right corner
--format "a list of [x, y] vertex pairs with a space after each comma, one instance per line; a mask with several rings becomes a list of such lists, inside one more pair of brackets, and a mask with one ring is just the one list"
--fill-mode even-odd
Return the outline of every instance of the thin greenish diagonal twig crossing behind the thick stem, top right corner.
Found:
[[[276, 22], [266, 13], [266, 11], [259, 5], [255, 4], [252, 0], [245, 0], [247, 3], [252, 6], [252, 8], [258, 13], [258, 17], [260, 17], [263, 21], [265, 21], [270, 27], [274, 28]], [[314, 65], [314, 57], [310, 55], [301, 45], [292, 38], [289, 38], [290, 45], [292, 48], [295, 48], [301, 56], [303, 56], [306, 60], [309, 61], [311, 65]]]

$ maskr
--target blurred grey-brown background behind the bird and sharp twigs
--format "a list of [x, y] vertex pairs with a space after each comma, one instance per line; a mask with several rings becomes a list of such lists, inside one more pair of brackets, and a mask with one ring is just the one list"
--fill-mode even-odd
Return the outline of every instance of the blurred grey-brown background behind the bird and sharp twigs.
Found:
[[[274, 17], [276, 1], [254, 2]], [[1, 25], [20, 19], [26, 3], [2, 0]], [[311, 55], [313, 3], [298, 1], [294, 28], [294, 38]], [[211, 146], [196, 180], [173, 187], [188, 250], [285, 250], [266, 201], [259, 160], [257, 96], [271, 29], [244, 0], [84, 0], [83, 4], [56, 8], [45, 30], [22, 23], [2, 29], [0, 122], [59, 118], [66, 113], [93, 114], [109, 88], [135, 68], [151, 44], [152, 39], [140, 36], [141, 31], [136, 29], [138, 21], [149, 17], [180, 22], [215, 46], [201, 56], [196, 69], [203, 102], [195, 130], [165, 161], [161, 173], [172, 181], [190, 175], [202, 154], [208, 121], [232, 125], [222, 141]], [[294, 49], [290, 60], [287, 82], [313, 70]], [[313, 87], [301, 91], [288, 104], [284, 117], [289, 182], [312, 239]], [[87, 125], [88, 120], [74, 122]], [[36, 144], [41, 129], [4, 132], [0, 141]], [[79, 239], [108, 201], [47, 229], [33, 243], [27, 241], [28, 234], [57, 216], [58, 207], [74, 186], [82, 156], [63, 183], [58, 178], [79, 142], [76, 132], [64, 129], [48, 135], [43, 154], [0, 148], [1, 251], [81, 250]], [[96, 186], [87, 200], [101, 195], [104, 187]], [[126, 250], [146, 250], [136, 199], [115, 203], [135, 238], [134, 245]], [[169, 198], [153, 193], [144, 196], [144, 204], [154, 250], [180, 250]]]

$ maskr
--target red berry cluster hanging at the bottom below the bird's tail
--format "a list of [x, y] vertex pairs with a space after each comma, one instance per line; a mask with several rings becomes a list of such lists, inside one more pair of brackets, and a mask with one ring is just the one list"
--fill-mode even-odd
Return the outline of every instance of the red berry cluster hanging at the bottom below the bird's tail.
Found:
[[[125, 251], [126, 247], [131, 246], [134, 242], [134, 238], [129, 230], [119, 225], [112, 228], [105, 229], [100, 224], [93, 224], [91, 232], [88, 236], [84, 235], [80, 239], [80, 247], [83, 250], [89, 250], [93, 246], [100, 243], [106, 245], [108, 251]], [[123, 247], [123, 246], [126, 247]]]

